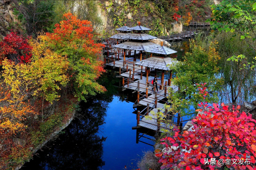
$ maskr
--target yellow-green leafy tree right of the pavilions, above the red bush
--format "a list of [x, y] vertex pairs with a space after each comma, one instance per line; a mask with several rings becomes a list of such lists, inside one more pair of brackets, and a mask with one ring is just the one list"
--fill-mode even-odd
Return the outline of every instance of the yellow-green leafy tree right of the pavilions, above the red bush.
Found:
[[[190, 106], [197, 109], [198, 103], [202, 101], [218, 100], [216, 92], [220, 90], [223, 81], [222, 78], [216, 78], [219, 70], [217, 63], [220, 60], [216, 46], [216, 42], [211, 43], [206, 51], [192, 40], [191, 51], [185, 54], [184, 61], [170, 66], [170, 69], [176, 72], [173, 84], [180, 88], [176, 93], [171, 91], [169, 98], [172, 102], [171, 111], [174, 113], [179, 112], [181, 115], [194, 113], [194, 109], [191, 110]], [[208, 89], [209, 94], [206, 99], [200, 95], [199, 84], [204, 84]]]

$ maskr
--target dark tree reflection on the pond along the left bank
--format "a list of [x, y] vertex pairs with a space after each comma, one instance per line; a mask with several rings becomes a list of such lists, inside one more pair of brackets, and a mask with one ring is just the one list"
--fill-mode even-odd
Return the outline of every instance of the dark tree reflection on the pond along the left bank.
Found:
[[98, 135], [104, 123], [108, 102], [91, 98], [81, 102], [78, 119], [65, 129], [55, 142], [47, 144], [44, 152], [38, 151], [34, 160], [22, 170], [99, 170], [102, 160], [103, 142], [106, 137]]

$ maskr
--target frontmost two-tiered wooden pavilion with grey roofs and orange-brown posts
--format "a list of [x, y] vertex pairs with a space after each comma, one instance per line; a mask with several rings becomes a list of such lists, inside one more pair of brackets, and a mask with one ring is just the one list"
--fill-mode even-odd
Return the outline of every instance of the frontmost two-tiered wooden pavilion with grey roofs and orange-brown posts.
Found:
[[[148, 49], [146, 52], [151, 53], [150, 58], [139, 61], [135, 63], [136, 65], [145, 66], [146, 67], [146, 83], [149, 84], [151, 80], [148, 80], [148, 75], [150, 74], [150, 69], [155, 70], [155, 76], [157, 76], [157, 70], [162, 70], [161, 76], [161, 85], [160, 90], [164, 88], [164, 74], [166, 71], [170, 71], [170, 78], [168, 79], [168, 86], [171, 85], [172, 80], [172, 70], [170, 70], [168, 64], [174, 64], [177, 61], [168, 57], [168, 55], [177, 53], [177, 51], [170, 49], [168, 47], [163, 46], [163, 42], [161, 42], [161, 46]], [[152, 53], [158, 54], [159, 56], [153, 56]]]

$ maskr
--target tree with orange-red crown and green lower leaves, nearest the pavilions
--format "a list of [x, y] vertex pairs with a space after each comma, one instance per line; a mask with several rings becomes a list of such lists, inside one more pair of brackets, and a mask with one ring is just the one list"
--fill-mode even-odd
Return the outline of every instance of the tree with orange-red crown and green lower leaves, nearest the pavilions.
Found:
[[94, 43], [90, 21], [79, 20], [71, 13], [64, 14], [64, 20], [56, 24], [54, 33], [39, 36], [41, 42], [46, 42], [47, 48], [67, 56], [71, 86], [78, 100], [85, 100], [84, 95], [95, 95], [106, 89], [96, 82], [104, 72], [100, 61], [102, 44]]

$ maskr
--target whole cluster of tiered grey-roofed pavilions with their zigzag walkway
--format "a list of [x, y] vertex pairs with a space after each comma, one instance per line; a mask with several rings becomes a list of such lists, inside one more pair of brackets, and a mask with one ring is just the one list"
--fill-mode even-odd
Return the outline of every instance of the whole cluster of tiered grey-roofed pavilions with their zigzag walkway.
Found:
[[[146, 34], [146, 31], [150, 29], [141, 26], [140, 22], [136, 27], [126, 27], [125, 29], [127, 30], [122, 35], [118, 33], [112, 36], [116, 39], [123, 39], [125, 42], [114, 41], [117, 43], [111, 46], [111, 52], [104, 49], [107, 52], [104, 63], [106, 66], [119, 68], [118, 76], [122, 77], [123, 90], [130, 89], [133, 90], [133, 93], [137, 92], [134, 106], [146, 106], [142, 111], [137, 112], [137, 127], [159, 131], [165, 125], [150, 111], [159, 113], [160, 109], [164, 110], [164, 104], [167, 103], [168, 88], [172, 88], [174, 92], [178, 91], [178, 86], [172, 84], [172, 70], [168, 66], [177, 62], [168, 55], [177, 52], [163, 46], [163, 44], [157, 45], [149, 42], [148, 40], [156, 37]], [[157, 83], [159, 92], [151, 91], [151, 88], [154, 88], [151, 84], [154, 76], [159, 77]], [[166, 110], [161, 112], [168, 115]], [[145, 115], [151, 116], [152, 120], [146, 120]], [[174, 123], [180, 125], [179, 116], [177, 122]]]

